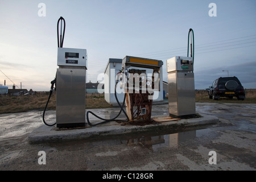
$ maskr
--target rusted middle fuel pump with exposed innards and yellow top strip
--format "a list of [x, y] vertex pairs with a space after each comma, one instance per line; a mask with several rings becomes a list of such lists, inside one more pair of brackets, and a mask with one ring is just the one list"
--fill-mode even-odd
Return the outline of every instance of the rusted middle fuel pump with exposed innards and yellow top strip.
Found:
[[[126, 93], [129, 121], [150, 121], [154, 91], [160, 91], [162, 65], [160, 60], [133, 56], [123, 58], [120, 85]], [[152, 73], [147, 74], [146, 69], [151, 69]]]

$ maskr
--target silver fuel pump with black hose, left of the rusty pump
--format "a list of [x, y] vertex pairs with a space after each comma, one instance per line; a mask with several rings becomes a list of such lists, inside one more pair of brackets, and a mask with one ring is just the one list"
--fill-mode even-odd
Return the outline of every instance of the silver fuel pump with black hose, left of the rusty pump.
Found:
[[[59, 23], [61, 23], [60, 37]], [[64, 35], [65, 19], [60, 17], [57, 22], [57, 65], [59, 68], [57, 68], [55, 80], [51, 82], [52, 85], [49, 98], [51, 97], [53, 86], [55, 84], [57, 127], [85, 126], [85, 76], [87, 69], [87, 52], [86, 49], [63, 48]], [[55, 123], [48, 124], [44, 121], [46, 107], [43, 112], [43, 122], [47, 126], [53, 126]]]

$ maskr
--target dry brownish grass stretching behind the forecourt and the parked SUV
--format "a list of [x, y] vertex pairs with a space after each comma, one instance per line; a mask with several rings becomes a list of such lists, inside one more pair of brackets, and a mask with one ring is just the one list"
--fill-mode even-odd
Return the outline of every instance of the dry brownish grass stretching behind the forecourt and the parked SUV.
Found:
[[[48, 100], [48, 94], [41, 93], [34, 96], [0, 96], [0, 114], [19, 113], [30, 110], [43, 110]], [[196, 102], [216, 102], [216, 103], [239, 103], [239, 104], [256, 104], [256, 89], [246, 89], [246, 98], [244, 101], [238, 101], [237, 98], [232, 100], [220, 98], [213, 100], [208, 98], [205, 90], [196, 91]], [[113, 105], [108, 104], [104, 99], [104, 94], [86, 94], [86, 109], [92, 108], [109, 108]], [[56, 109], [56, 94], [52, 94], [49, 100], [47, 110]]]

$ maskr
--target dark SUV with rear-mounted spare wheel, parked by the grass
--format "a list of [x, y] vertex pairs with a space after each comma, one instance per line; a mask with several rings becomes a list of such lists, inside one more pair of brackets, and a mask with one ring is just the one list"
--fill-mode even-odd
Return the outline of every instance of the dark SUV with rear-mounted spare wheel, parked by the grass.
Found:
[[208, 96], [214, 100], [220, 97], [228, 97], [232, 99], [237, 97], [237, 100], [245, 100], [245, 90], [237, 77], [220, 77], [213, 81], [209, 87]]

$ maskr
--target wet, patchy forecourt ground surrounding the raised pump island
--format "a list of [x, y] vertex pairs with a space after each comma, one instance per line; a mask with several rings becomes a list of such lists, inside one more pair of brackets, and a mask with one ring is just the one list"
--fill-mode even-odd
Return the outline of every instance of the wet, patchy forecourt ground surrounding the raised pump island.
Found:
[[[102, 117], [119, 111], [90, 110]], [[31, 131], [43, 125], [42, 111], [1, 114], [0, 170], [256, 169], [256, 104], [196, 103], [196, 111], [214, 115], [220, 122], [172, 133], [42, 144], [27, 140]], [[153, 105], [152, 115], [161, 113], [168, 113], [168, 105]], [[55, 111], [47, 111], [49, 118], [55, 118]], [[46, 152], [46, 164], [39, 164], [43, 161], [39, 151]], [[214, 162], [210, 151], [216, 152], [216, 164], [210, 164]]]

